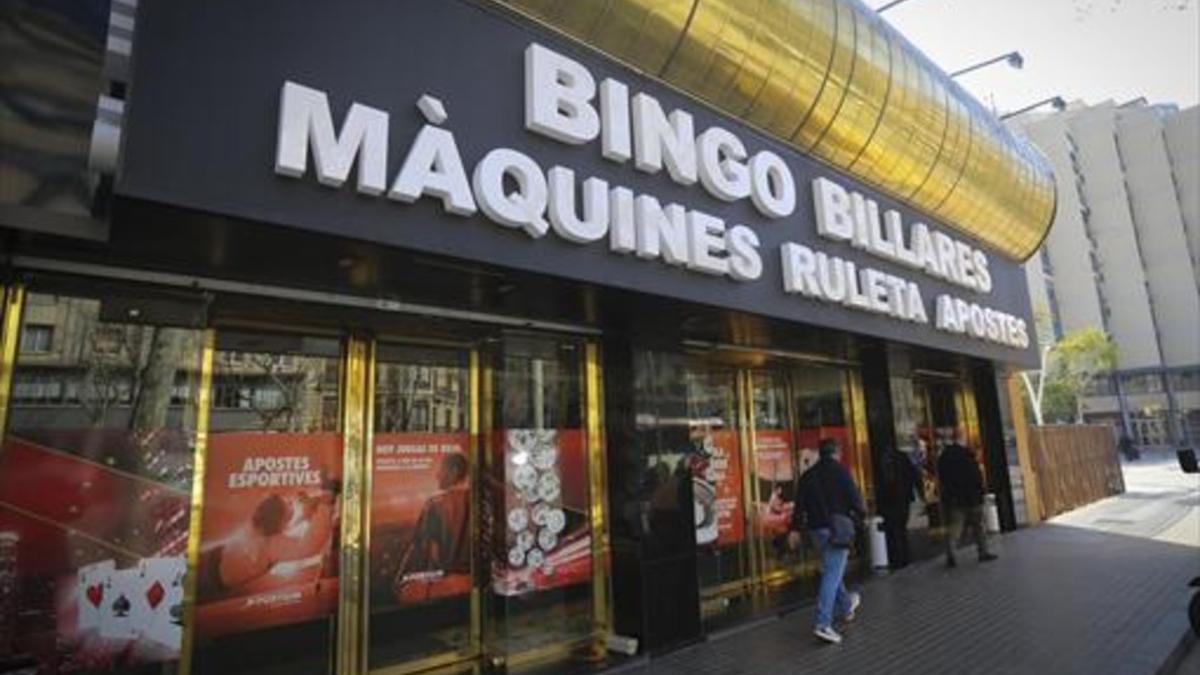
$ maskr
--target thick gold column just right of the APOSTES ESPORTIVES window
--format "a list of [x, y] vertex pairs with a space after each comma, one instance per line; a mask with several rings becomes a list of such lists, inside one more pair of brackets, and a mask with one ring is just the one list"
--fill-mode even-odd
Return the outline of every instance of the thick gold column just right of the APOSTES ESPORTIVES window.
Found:
[[335, 673], [354, 675], [366, 669], [366, 597], [364, 566], [371, 442], [371, 378], [373, 342], [361, 336], [346, 341], [344, 405], [342, 408], [342, 532], [337, 592]]

